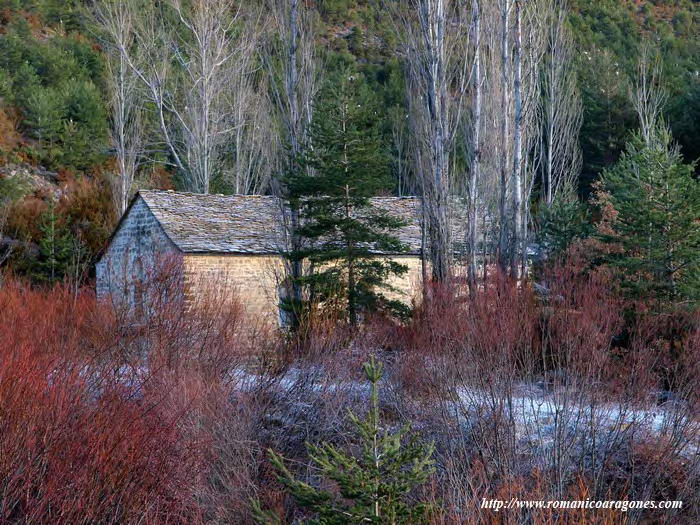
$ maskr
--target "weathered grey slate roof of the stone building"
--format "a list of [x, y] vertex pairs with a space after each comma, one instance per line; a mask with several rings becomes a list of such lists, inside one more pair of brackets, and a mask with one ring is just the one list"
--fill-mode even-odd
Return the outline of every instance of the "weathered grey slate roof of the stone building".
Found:
[[[286, 244], [285, 210], [276, 197], [156, 190], [142, 190], [139, 196], [186, 253], [270, 254], [279, 253]], [[372, 202], [407, 223], [394, 234], [409, 247], [408, 253], [419, 254], [420, 199], [376, 197]]]

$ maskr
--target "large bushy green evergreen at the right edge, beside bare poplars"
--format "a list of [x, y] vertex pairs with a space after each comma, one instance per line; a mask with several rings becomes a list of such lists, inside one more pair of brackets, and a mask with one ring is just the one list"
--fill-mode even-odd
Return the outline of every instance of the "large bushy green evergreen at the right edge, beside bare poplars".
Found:
[[601, 200], [614, 210], [601, 235], [612, 245], [606, 261], [633, 297], [700, 299], [700, 182], [693, 173], [670, 132], [659, 129], [649, 144], [635, 137], [603, 174]]

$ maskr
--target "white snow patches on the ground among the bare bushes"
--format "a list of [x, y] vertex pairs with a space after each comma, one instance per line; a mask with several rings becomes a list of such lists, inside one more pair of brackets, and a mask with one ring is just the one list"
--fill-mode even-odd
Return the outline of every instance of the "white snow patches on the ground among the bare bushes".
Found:
[[[300, 409], [324, 394], [342, 392], [356, 400], [369, 394], [366, 382], [329, 378], [320, 367], [290, 368], [272, 379], [237, 369], [231, 380], [239, 392], [253, 392], [265, 385], [280, 399], [299, 404]], [[301, 399], [303, 396], [307, 398]], [[574, 392], [548, 392], [536, 385], [520, 385], [511, 396], [462, 387], [455, 400], [445, 403], [465, 427], [473, 425], [475, 418], [500, 414], [514, 428], [518, 443], [535, 453], [547, 453], [557, 438], [579, 445], [592, 439], [605, 444], [620, 442], [632, 434], [651, 437], [680, 432], [688, 439], [684, 454], [700, 454], [700, 421], [690, 419], [681, 403], [653, 408], [612, 402], [594, 404], [586, 396], [576, 398]]]

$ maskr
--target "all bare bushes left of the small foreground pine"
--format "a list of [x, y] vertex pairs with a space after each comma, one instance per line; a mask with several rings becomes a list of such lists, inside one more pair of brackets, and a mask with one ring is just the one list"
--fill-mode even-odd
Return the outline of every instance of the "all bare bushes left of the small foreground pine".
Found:
[[251, 498], [284, 504], [268, 446], [304, 462], [306, 440], [344, 439], [361, 352], [261, 370], [253, 350], [280, 339], [230, 287], [187, 300], [180, 272], [160, 265], [118, 308], [0, 289], [0, 521], [250, 523]]

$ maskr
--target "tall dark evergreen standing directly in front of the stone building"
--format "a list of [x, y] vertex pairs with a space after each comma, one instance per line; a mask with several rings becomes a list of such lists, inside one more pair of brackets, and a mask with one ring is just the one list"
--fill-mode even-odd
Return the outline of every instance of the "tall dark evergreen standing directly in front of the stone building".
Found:
[[403, 222], [370, 200], [391, 187], [390, 162], [375, 99], [351, 75], [324, 89], [302, 165], [287, 187], [301, 212], [297, 233], [304, 247], [289, 257], [311, 269], [299, 279], [309, 303], [340, 300], [352, 324], [380, 308], [405, 313], [400, 301], [381, 293], [391, 289], [389, 277], [407, 271], [386, 256], [405, 251], [392, 235]]

